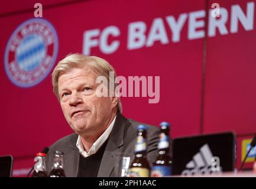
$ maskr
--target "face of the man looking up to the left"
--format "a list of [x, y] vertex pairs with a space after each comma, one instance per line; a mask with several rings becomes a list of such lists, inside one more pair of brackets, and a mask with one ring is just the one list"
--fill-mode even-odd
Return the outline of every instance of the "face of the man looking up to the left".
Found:
[[61, 109], [71, 128], [82, 136], [101, 135], [117, 103], [115, 97], [96, 96], [96, 77], [98, 74], [88, 66], [59, 77]]

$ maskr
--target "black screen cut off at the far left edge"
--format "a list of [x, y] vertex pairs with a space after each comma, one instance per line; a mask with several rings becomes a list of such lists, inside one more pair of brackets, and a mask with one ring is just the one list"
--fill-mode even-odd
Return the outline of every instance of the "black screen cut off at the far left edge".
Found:
[[11, 155], [0, 157], [0, 177], [12, 176], [12, 162], [13, 158]]

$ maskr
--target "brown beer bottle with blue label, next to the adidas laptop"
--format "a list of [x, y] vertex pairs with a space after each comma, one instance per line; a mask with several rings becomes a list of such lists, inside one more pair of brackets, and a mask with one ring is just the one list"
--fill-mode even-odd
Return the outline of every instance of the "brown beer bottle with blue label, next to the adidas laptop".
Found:
[[161, 133], [158, 142], [158, 156], [151, 167], [151, 177], [171, 175], [172, 158], [170, 157], [170, 123], [161, 122]]

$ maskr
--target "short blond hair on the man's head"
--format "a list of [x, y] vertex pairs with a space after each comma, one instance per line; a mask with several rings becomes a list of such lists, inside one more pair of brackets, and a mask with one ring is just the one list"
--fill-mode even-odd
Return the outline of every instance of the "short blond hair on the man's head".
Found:
[[[63, 60], [59, 61], [53, 73], [51, 74], [51, 82], [53, 84], [53, 92], [56, 94], [57, 99], [60, 101], [59, 96], [59, 86], [58, 81], [61, 74], [66, 73], [72, 69], [82, 69], [85, 66], [89, 66], [90, 69], [95, 71], [95, 73], [105, 76], [109, 82], [109, 72], [114, 72], [114, 80], [116, 78], [116, 72], [114, 67], [108, 63], [108, 61], [103, 58], [95, 57], [95, 56], [85, 56], [83, 54], [69, 54]], [[115, 83], [115, 88], [118, 86], [118, 83]], [[120, 98], [118, 97], [117, 109], [119, 112], [122, 112], [122, 103]]]

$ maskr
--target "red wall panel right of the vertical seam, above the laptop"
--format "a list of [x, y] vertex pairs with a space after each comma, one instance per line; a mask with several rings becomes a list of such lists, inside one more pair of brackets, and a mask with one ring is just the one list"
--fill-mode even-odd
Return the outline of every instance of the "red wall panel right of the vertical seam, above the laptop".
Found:
[[[219, 4], [228, 12], [231, 5], [239, 4], [246, 13], [247, 2], [250, 1]], [[228, 30], [230, 17], [226, 22]], [[233, 130], [241, 135], [256, 131], [255, 42], [255, 19], [251, 31], [239, 24], [237, 33], [217, 32], [215, 37], [207, 38], [203, 132]]]

